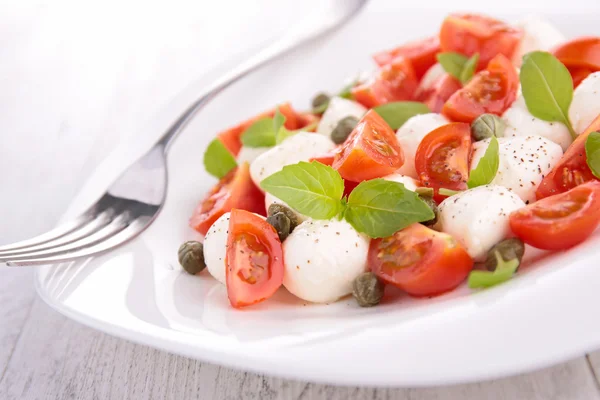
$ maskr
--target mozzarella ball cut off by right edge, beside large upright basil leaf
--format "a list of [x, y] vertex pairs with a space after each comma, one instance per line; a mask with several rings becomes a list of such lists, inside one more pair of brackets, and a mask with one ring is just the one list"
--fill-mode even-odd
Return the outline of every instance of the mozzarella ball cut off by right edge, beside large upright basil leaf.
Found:
[[580, 135], [600, 115], [600, 71], [590, 74], [573, 93], [569, 119]]

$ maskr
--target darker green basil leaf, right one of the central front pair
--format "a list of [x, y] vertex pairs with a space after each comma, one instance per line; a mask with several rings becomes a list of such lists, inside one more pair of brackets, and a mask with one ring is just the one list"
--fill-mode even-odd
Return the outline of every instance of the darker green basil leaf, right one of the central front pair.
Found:
[[419, 195], [402, 183], [373, 179], [361, 182], [348, 197], [346, 221], [372, 238], [393, 235], [400, 229], [434, 218]]

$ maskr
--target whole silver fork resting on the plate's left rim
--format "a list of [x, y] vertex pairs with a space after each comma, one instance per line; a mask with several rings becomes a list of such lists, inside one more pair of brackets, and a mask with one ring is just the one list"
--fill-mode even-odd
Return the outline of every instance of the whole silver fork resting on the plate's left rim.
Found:
[[192, 103], [148, 153], [130, 165], [94, 205], [77, 218], [32, 239], [0, 246], [0, 265], [54, 264], [121, 246], [157, 217], [167, 190], [166, 155], [187, 123], [219, 92], [267, 62], [343, 25], [368, 0], [318, 2], [273, 45], [217, 80]]

